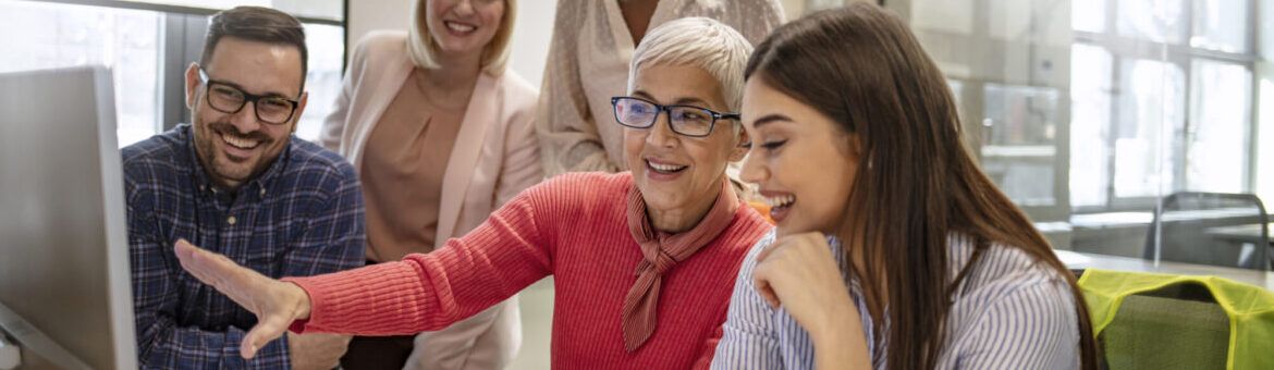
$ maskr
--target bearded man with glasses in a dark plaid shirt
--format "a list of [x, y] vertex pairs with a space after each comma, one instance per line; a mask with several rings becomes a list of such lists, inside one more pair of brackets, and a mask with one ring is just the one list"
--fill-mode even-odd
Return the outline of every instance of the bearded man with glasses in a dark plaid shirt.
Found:
[[348, 337], [289, 334], [238, 356], [256, 317], [185, 273], [173, 243], [217, 249], [271, 277], [363, 263], [353, 168], [292, 136], [307, 51], [296, 18], [255, 6], [213, 15], [186, 70], [181, 125], [122, 150], [138, 360], [148, 369], [331, 369]]

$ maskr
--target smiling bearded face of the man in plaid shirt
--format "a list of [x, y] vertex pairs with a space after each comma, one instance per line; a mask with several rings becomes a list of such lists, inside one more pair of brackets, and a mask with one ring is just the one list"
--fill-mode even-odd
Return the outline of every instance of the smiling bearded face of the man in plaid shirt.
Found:
[[282, 125], [260, 121], [256, 103], [246, 103], [237, 113], [224, 113], [208, 104], [209, 92], [199, 79], [199, 66], [191, 64], [186, 70], [186, 106], [195, 121], [191, 130], [195, 151], [214, 183], [237, 189], [283, 153], [304, 112], [307, 97], [299, 92], [301, 51], [294, 46], [225, 37], [203, 67], [211, 81], [248, 94], [299, 102], [292, 118]]

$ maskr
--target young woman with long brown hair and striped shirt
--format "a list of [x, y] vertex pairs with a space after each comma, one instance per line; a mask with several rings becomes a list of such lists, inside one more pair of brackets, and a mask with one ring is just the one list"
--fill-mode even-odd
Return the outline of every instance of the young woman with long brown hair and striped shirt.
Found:
[[1075, 278], [977, 168], [906, 24], [808, 15], [747, 69], [743, 179], [776, 234], [740, 270], [720, 369], [1096, 369]]

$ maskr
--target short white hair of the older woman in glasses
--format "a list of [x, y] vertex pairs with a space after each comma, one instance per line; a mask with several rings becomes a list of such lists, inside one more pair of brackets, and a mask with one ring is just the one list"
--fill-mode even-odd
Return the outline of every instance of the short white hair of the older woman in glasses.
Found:
[[750, 55], [748, 39], [715, 19], [693, 17], [668, 22], [646, 33], [633, 51], [628, 93], [634, 90], [637, 69], [643, 65], [692, 66], [717, 80], [726, 108], [736, 113], [743, 106], [743, 70]]

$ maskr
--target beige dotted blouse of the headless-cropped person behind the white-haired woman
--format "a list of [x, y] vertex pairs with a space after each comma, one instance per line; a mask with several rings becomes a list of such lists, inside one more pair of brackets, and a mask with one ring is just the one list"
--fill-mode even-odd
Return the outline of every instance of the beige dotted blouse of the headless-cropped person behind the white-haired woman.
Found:
[[[784, 20], [778, 0], [662, 0], [647, 29], [687, 17], [721, 20], [753, 45]], [[627, 89], [633, 50], [617, 0], [558, 1], [535, 117], [545, 175], [627, 168], [610, 97]]]

